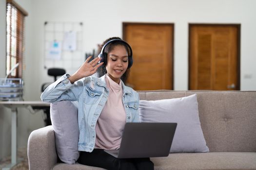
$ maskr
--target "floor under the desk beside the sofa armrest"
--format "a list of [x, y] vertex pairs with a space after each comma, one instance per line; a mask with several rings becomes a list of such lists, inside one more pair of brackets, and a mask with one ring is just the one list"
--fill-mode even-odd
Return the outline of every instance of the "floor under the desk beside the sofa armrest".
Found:
[[[22, 161], [13, 167], [11, 170], [28, 170], [28, 157], [27, 157], [27, 148], [19, 148], [18, 157], [22, 158]], [[11, 156], [7, 156], [0, 160], [0, 170], [3, 167], [11, 163]]]

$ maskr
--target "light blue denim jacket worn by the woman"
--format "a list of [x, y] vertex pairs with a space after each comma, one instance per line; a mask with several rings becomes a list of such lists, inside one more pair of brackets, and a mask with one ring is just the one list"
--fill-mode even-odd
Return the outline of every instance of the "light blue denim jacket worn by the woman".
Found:
[[[82, 78], [74, 84], [70, 83], [68, 77], [70, 75], [65, 74], [49, 85], [41, 94], [41, 100], [43, 102], [78, 101], [78, 148], [79, 151], [92, 152], [96, 139], [96, 123], [109, 95], [105, 75], [100, 78], [92, 76]], [[138, 122], [138, 93], [121, 83], [126, 122]]]

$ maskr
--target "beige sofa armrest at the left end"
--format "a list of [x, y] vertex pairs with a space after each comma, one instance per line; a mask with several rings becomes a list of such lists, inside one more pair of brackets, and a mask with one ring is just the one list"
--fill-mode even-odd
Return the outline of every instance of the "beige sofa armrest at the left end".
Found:
[[57, 158], [53, 127], [33, 131], [28, 138], [29, 170], [51, 170]]

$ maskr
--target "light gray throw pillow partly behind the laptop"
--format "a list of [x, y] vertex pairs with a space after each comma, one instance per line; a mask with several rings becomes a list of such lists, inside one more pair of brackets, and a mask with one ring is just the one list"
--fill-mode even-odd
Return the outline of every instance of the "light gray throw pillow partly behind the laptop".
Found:
[[139, 101], [141, 122], [177, 122], [170, 153], [209, 152], [198, 115], [197, 94], [157, 101]]

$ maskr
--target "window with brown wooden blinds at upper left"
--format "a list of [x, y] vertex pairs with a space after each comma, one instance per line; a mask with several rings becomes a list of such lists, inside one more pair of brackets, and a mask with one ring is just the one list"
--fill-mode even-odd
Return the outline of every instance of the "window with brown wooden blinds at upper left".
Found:
[[14, 0], [6, 2], [6, 74], [9, 78], [22, 78], [24, 17], [28, 14]]

